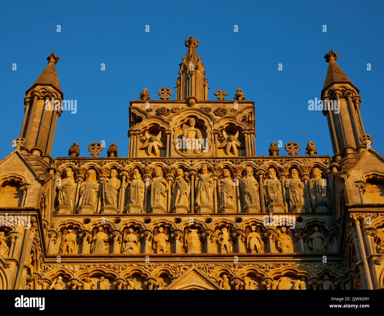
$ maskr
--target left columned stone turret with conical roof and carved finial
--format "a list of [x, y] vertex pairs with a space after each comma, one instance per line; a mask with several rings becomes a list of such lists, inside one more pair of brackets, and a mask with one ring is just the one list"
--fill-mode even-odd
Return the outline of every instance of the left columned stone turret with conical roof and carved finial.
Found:
[[20, 137], [25, 138], [23, 149], [27, 153], [41, 155], [49, 162], [57, 119], [62, 113], [63, 92], [55, 66], [59, 57], [51, 53], [47, 60], [48, 65], [25, 93]]

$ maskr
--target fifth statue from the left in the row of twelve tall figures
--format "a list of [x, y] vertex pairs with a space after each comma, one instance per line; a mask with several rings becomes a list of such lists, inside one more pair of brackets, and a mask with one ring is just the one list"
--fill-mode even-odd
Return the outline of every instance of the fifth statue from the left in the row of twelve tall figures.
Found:
[[154, 177], [149, 183], [148, 190], [151, 191], [149, 213], [166, 213], [168, 183], [163, 178], [163, 171], [160, 167], [155, 167]]

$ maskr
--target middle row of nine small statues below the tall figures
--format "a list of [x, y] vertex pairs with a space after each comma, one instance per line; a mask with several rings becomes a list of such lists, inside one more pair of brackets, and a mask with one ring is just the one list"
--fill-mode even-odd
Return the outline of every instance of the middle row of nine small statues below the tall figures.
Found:
[[[293, 238], [300, 240], [300, 238], [306, 238], [307, 234], [295, 234], [289, 229], [282, 226], [275, 230], [265, 230], [264, 232], [260, 227], [252, 225], [247, 229], [247, 233], [241, 230], [228, 231], [228, 228], [222, 229], [204, 230], [198, 229], [185, 229], [184, 233], [181, 230], [175, 230], [169, 232], [169, 228], [159, 227], [156, 228], [152, 234], [148, 230], [143, 230], [141, 233], [139, 230], [133, 228], [127, 228], [122, 235], [112, 233], [108, 235], [103, 227], [99, 227], [98, 230], [89, 236], [88, 240], [91, 241], [91, 253], [105, 254], [108, 253], [108, 243], [117, 240], [121, 245], [121, 253], [123, 254], [139, 254], [141, 251], [148, 253], [148, 248], [142, 249], [141, 243], [148, 244], [152, 241], [152, 248], [154, 253], [171, 253], [170, 239], [174, 239], [175, 252], [178, 253], [179, 244], [184, 245], [186, 253], [210, 253], [212, 244], [217, 244], [218, 253], [232, 253], [237, 250], [241, 252], [239, 247], [241, 244], [245, 245], [245, 249], [249, 253], [265, 253], [274, 252], [272, 243], [275, 243], [275, 247], [281, 253], [294, 253]], [[77, 239], [80, 237], [77, 230], [69, 229], [64, 230], [61, 237], [60, 254], [72, 254], [75, 251]], [[82, 238], [86, 238], [86, 235], [82, 235]], [[238, 243], [237, 240], [240, 239]], [[269, 240], [270, 239], [270, 240]], [[203, 241], [205, 241], [205, 249], [202, 249]], [[326, 238], [324, 234], [319, 231], [319, 227], [313, 227], [311, 234], [308, 238], [309, 246], [314, 253], [325, 253], [326, 250]], [[265, 242], [269, 244], [268, 250], [264, 251]], [[235, 246], [233, 244], [236, 244]], [[300, 241], [301, 243], [301, 241]], [[177, 245], [177, 246], [176, 246]], [[235, 249], [233, 249], [236, 247]], [[142, 250], [141, 250], [142, 249]], [[303, 252], [305, 249], [303, 249]], [[120, 251], [119, 251], [120, 252]]]

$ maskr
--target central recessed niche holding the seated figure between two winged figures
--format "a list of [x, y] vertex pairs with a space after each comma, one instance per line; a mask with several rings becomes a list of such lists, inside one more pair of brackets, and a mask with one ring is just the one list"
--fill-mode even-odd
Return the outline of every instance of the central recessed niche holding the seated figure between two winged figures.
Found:
[[196, 125], [196, 119], [191, 117], [179, 128], [176, 149], [184, 154], [199, 155], [208, 150], [204, 123], [198, 122]]

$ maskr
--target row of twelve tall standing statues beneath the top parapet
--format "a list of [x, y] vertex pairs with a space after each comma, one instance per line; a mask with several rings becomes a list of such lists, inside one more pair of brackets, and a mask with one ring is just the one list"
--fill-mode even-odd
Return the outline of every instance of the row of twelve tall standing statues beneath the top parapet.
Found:
[[[295, 168], [290, 170], [288, 177], [281, 177], [280, 180], [273, 168], [266, 171], [264, 180], [263, 173], [260, 173], [259, 181], [253, 173], [253, 168], [247, 166], [242, 178], [232, 179], [230, 171], [223, 169], [219, 178], [203, 165], [199, 175], [195, 171], [190, 173], [191, 178], [189, 173], [179, 168], [174, 177], [167, 176], [165, 179], [161, 167], [157, 166], [145, 182], [140, 171], [134, 169], [131, 180], [125, 183], [127, 173], [126, 178], [120, 181], [118, 172], [112, 169], [109, 178], [101, 180], [102, 194], [98, 199], [96, 171], [90, 169], [86, 172], [85, 181], [77, 193], [73, 170], [68, 167], [65, 178], [59, 180], [57, 186], [57, 210], [59, 213], [72, 213], [75, 206], [79, 214], [96, 213], [99, 200], [103, 201], [101, 213], [121, 213], [124, 204], [127, 213], [189, 213], [191, 208], [197, 213], [236, 213], [241, 211], [241, 205], [245, 213], [330, 210], [327, 180], [321, 177], [319, 168], [313, 168], [311, 178], [303, 177], [303, 180], [300, 180]], [[261, 192], [259, 184], [263, 187]], [[127, 203], [124, 203], [126, 190]], [[77, 199], [75, 203], [74, 196]], [[190, 203], [191, 199], [194, 203]]]

